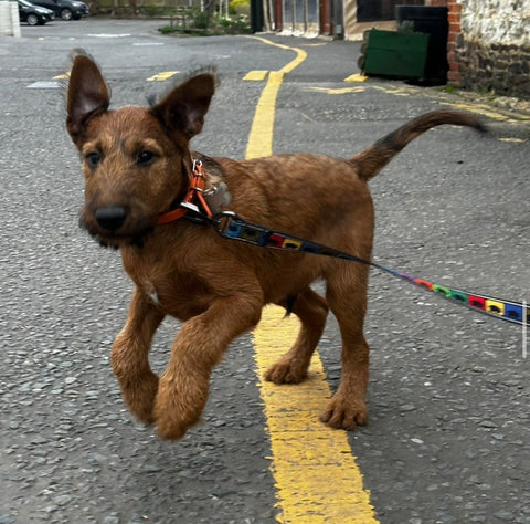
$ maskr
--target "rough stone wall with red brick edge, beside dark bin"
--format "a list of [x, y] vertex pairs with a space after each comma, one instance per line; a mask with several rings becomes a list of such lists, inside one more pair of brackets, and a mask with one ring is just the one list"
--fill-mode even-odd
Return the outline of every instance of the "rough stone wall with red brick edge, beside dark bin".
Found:
[[448, 0], [449, 81], [530, 98], [530, 0]]

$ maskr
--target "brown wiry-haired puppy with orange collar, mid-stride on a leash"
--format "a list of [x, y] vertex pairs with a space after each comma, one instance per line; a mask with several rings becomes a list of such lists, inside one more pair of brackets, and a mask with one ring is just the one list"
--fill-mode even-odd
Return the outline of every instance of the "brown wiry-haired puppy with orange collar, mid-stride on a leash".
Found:
[[[363, 319], [367, 265], [258, 249], [219, 237], [184, 218], [159, 224], [190, 185], [192, 158], [203, 163], [206, 189], [221, 180], [230, 209], [275, 230], [370, 259], [373, 208], [367, 181], [407, 143], [441, 124], [480, 129], [473, 116], [437, 111], [412, 120], [349, 159], [283, 155], [235, 161], [190, 151], [215, 88], [202, 72], [151, 107], [109, 111], [109, 91], [93, 60], [77, 52], [70, 78], [67, 130], [81, 151], [85, 207], [81, 222], [102, 244], [119, 248], [136, 284], [127, 323], [113, 347], [113, 369], [130, 410], [168, 439], [198, 422], [212, 367], [230, 343], [252, 329], [265, 304], [295, 313], [295, 345], [265, 378], [304, 380], [328, 306], [342, 336], [342, 378], [321, 416], [333, 428], [367, 423], [369, 348]], [[326, 280], [326, 300], [310, 284]], [[148, 352], [166, 315], [184, 321], [160, 379]]]

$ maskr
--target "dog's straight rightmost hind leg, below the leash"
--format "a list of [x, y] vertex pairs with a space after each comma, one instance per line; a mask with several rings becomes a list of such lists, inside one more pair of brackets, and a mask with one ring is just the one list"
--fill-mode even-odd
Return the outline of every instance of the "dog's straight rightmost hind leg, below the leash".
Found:
[[342, 376], [320, 420], [332, 428], [354, 429], [368, 422], [369, 347], [362, 327], [369, 269], [350, 262], [339, 263], [341, 266], [328, 277], [326, 297], [342, 336]]

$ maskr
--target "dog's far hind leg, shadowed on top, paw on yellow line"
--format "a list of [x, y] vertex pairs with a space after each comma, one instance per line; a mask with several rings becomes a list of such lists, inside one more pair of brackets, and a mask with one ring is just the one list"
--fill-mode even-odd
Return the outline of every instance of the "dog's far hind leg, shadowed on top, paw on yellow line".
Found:
[[[284, 303], [280, 305], [286, 307]], [[328, 304], [307, 287], [297, 295], [292, 312], [300, 319], [301, 327], [290, 350], [264, 375], [265, 380], [274, 384], [298, 384], [306, 378], [311, 356], [326, 325]]]

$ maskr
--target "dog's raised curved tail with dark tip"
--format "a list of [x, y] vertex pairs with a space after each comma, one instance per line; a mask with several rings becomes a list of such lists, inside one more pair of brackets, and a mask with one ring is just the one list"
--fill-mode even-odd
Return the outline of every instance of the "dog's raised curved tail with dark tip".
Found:
[[451, 109], [433, 111], [414, 118], [385, 137], [380, 138], [373, 146], [348, 160], [348, 164], [356, 166], [360, 178], [369, 180], [386, 166], [410, 142], [432, 127], [442, 124], [468, 126], [481, 133], [486, 132], [486, 127], [478, 118], [468, 113]]

